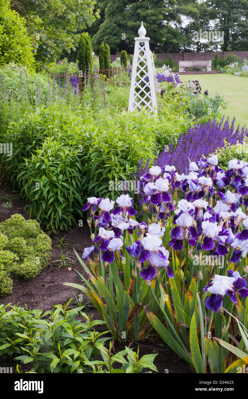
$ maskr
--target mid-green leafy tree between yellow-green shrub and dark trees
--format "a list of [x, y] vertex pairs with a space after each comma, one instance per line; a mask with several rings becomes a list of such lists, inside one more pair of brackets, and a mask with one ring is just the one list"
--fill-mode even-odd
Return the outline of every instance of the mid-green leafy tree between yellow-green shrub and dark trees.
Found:
[[12, 9], [27, 20], [36, 61], [41, 63], [75, 50], [78, 28], [82, 32], [98, 17], [95, 4], [93, 0], [11, 0]]

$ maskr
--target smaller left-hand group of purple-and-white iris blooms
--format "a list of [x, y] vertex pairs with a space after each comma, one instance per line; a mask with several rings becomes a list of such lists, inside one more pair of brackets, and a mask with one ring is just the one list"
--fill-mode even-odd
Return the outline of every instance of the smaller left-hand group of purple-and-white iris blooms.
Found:
[[[155, 168], [151, 172], [159, 171]], [[162, 193], [162, 198], [164, 198], [165, 189], [167, 187], [163, 187], [162, 183], [158, 187], [158, 190], [162, 190], [162, 192], [159, 191]], [[171, 197], [169, 196], [168, 199]], [[90, 229], [93, 245], [84, 249], [82, 258], [90, 261], [90, 259], [96, 258], [96, 251], [100, 251], [101, 261], [107, 267], [114, 260], [116, 262], [119, 258], [121, 261], [124, 260], [124, 246], [130, 257], [136, 262], [140, 277], [148, 284], [156, 275], [159, 276], [161, 268], [167, 271], [169, 277], [174, 277], [169, 266], [169, 252], [162, 246], [161, 238], [164, 235], [165, 227], [161, 227], [157, 223], [146, 225], [144, 222], [136, 221], [137, 211], [133, 208], [132, 198], [129, 198], [128, 194], [119, 196], [116, 203], [117, 206], [114, 207], [114, 201], [110, 201], [108, 198], [89, 197], [87, 199], [82, 210], [90, 209], [89, 219], [91, 216]], [[95, 227], [94, 233], [92, 226]], [[130, 246], [125, 246], [127, 235], [133, 235], [135, 230], [139, 235], [139, 240], [134, 241]], [[119, 253], [119, 258], [117, 253]]]

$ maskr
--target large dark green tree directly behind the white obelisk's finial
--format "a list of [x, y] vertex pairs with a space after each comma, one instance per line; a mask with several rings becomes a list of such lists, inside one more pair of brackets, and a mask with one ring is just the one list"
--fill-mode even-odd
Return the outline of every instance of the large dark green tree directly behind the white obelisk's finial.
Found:
[[[109, 0], [106, 2], [102, 24], [92, 37], [92, 47], [98, 51], [100, 43], [109, 43], [110, 51], [132, 51], [141, 21], [150, 37], [152, 51], [179, 51], [183, 45], [182, 21], [177, 0]], [[99, 22], [97, 22], [99, 24]], [[94, 28], [94, 24], [90, 31]]]

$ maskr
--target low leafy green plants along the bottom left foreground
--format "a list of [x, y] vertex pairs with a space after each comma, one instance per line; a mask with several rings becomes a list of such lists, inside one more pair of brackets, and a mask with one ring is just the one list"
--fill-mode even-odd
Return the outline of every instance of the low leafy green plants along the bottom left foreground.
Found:
[[[0, 305], [0, 356], [24, 365], [31, 363], [31, 372], [35, 373], [141, 373], [144, 368], [157, 371], [153, 365], [156, 354], [139, 358], [139, 349], [136, 353], [127, 347], [112, 354], [111, 343], [109, 350], [104, 346], [110, 340], [104, 337], [108, 331], [99, 333], [94, 329], [105, 322], [93, 321], [82, 312], [84, 306], [70, 309], [71, 300], [47, 312]], [[113, 367], [116, 362], [122, 366]], [[19, 366], [17, 370], [20, 372]]]

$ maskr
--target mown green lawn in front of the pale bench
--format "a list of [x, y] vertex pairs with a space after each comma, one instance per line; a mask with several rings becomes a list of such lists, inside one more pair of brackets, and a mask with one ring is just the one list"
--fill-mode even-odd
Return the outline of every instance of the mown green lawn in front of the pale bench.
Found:
[[228, 73], [216, 75], [180, 75], [181, 81], [199, 80], [201, 92], [209, 91], [224, 95], [229, 104], [226, 109], [221, 110], [222, 115], [232, 119], [236, 118], [235, 126], [248, 127], [248, 77], [229, 75]]

